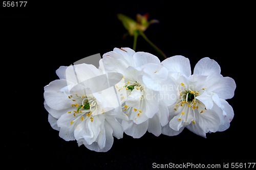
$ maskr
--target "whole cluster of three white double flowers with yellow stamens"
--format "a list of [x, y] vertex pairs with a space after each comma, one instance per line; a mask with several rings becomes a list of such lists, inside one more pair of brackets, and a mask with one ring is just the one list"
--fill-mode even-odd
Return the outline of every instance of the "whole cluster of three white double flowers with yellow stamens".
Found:
[[114, 48], [91, 64], [60, 66], [58, 80], [45, 86], [51, 127], [67, 141], [96, 152], [109, 151], [123, 133], [174, 136], [187, 128], [197, 135], [225, 131], [234, 116], [226, 101], [236, 83], [219, 64], [202, 58], [191, 74], [183, 56], [158, 57]]

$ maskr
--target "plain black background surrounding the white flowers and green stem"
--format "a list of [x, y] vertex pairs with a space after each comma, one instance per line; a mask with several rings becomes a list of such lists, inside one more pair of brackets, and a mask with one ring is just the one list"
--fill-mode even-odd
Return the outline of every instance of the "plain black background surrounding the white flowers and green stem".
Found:
[[[256, 162], [253, 11], [241, 3], [28, 2], [24, 8], [1, 4], [2, 161], [8, 169], [153, 169], [152, 164]], [[106, 153], [65, 141], [48, 123], [44, 86], [58, 79], [56, 69], [133, 38], [117, 19], [149, 14], [158, 19], [145, 34], [168, 56], [183, 55], [191, 67], [203, 57], [216, 60], [221, 74], [236, 81], [234, 118], [224, 132], [203, 138], [184, 130], [178, 136], [124, 134]], [[250, 45], [251, 44], [251, 45]], [[252, 50], [252, 52], [250, 52]], [[158, 55], [138, 38], [136, 51]], [[163, 60], [163, 58], [160, 58]], [[248, 165], [248, 164], [247, 164]], [[255, 166], [256, 167], [256, 166]]]

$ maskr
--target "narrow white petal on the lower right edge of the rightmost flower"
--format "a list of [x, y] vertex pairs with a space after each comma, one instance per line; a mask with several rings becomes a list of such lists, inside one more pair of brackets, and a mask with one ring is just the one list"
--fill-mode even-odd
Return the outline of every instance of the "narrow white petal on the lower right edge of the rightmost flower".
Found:
[[233, 108], [228, 104], [227, 101], [221, 100], [221, 104], [224, 107], [224, 112], [226, 115], [224, 115], [224, 124], [219, 126], [218, 131], [222, 132], [229, 128], [230, 122], [232, 121], [234, 117], [234, 111]]

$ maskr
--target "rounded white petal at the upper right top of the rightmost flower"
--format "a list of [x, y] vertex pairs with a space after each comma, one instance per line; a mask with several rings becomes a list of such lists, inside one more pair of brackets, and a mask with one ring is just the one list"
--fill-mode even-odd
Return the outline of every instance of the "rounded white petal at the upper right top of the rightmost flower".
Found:
[[215, 60], [210, 59], [208, 57], [199, 60], [194, 68], [194, 74], [198, 74], [201, 76], [221, 77], [220, 72], [220, 65]]

